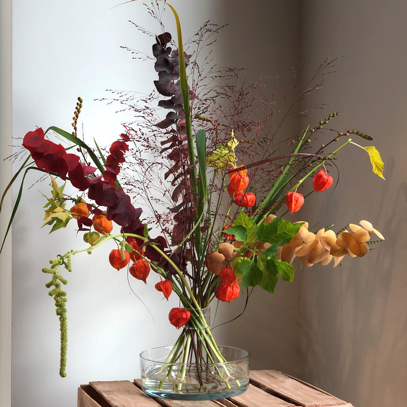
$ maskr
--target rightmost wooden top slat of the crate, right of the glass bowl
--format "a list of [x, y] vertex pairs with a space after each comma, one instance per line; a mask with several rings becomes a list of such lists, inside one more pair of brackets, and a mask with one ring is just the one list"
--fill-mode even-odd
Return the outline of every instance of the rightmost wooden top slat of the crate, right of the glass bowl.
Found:
[[276, 370], [250, 372], [250, 382], [261, 389], [275, 392], [304, 407], [345, 407], [346, 403], [326, 392], [308, 386]]

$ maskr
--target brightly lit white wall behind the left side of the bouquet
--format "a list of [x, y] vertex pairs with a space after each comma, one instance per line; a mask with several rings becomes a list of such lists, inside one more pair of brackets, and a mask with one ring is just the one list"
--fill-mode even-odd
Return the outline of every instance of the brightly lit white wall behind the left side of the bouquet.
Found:
[[[80, 121], [84, 123], [88, 140], [96, 136], [102, 144], [109, 144], [122, 132], [120, 124], [131, 116], [116, 114], [117, 106], [107, 106], [94, 99], [108, 96], [104, 91], [107, 88], [145, 93], [152, 90], [152, 81], [156, 79], [153, 65], [132, 61], [131, 55], [119, 47], [125, 45], [151, 52], [153, 42], [137, 33], [127, 23], [129, 19], [147, 26], [153, 33], [160, 30], [146, 17], [141, 2], [111, 9], [116, 3], [107, 0], [85, 3], [42, 0], [35, 4], [13, 1], [14, 137], [22, 137], [35, 126], [45, 129], [56, 125], [70, 131], [77, 96], [84, 100]], [[248, 27], [235, 24], [222, 8], [225, 4], [215, 0], [193, 5], [174, 1], [183, 22], [184, 39], [195, 34], [206, 20], [219, 24], [229, 22], [230, 26], [222, 32], [223, 37], [220, 36], [219, 49], [229, 46], [241, 52], [242, 35], [246, 44], [250, 41], [244, 35]], [[241, 18], [246, 11], [236, 7], [235, 13]], [[254, 25], [258, 22], [255, 16], [252, 14]], [[267, 15], [263, 18], [268, 20]], [[173, 33], [169, 12], [164, 21], [169, 22]], [[235, 36], [239, 41], [230, 41]], [[250, 66], [251, 59], [258, 58], [259, 53], [254, 47], [248, 51], [242, 58], [235, 55], [232, 63], [220, 59], [220, 64]], [[266, 55], [261, 62], [268, 59]], [[257, 77], [264, 66], [260, 68], [258, 60], [253, 66]], [[20, 142], [21, 139], [15, 140], [15, 144]], [[38, 176], [32, 172], [27, 186]], [[47, 227], [40, 228], [44, 198], [39, 191], [49, 192], [47, 181], [24, 192], [13, 225], [13, 407], [53, 405], [56, 400], [58, 405], [68, 406], [75, 403], [79, 384], [132, 380], [139, 376], [138, 353], [147, 347], [171, 343], [177, 335], [167, 322], [171, 304], [160, 301], [161, 296], [153, 284], [144, 286], [133, 282], [132, 287], [154, 315], [155, 322], [131, 293], [126, 274], [115, 272], [108, 265], [107, 255], [113, 247], [101, 249], [92, 256], [78, 255], [73, 259], [74, 270], [67, 276], [66, 287], [68, 377], [58, 376], [59, 326], [53, 300], [44, 286], [49, 278], [41, 273], [41, 268], [47, 265], [49, 258], [80, 243], [75, 239], [74, 225], [52, 235], [48, 235]], [[172, 298], [172, 306], [175, 304]], [[294, 315], [289, 318], [294, 326], [296, 313], [294, 309], [288, 311]], [[216, 335], [221, 338], [227, 331], [228, 327], [224, 327]], [[227, 343], [239, 342], [244, 336], [241, 334], [234, 342], [228, 340]]]

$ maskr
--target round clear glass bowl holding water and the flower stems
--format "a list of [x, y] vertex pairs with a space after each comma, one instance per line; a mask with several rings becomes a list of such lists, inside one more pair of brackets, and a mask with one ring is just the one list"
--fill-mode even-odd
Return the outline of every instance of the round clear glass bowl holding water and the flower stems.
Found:
[[227, 362], [168, 363], [172, 346], [140, 353], [141, 388], [154, 397], [176, 400], [213, 400], [236, 396], [249, 386], [249, 352], [219, 346]]

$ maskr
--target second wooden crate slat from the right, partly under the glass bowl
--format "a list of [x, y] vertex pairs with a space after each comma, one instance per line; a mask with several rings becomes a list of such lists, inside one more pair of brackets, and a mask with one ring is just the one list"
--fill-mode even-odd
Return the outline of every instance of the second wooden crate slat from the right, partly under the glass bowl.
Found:
[[236, 404], [241, 407], [295, 407], [294, 404], [281, 400], [251, 384], [246, 392], [221, 401], [226, 407], [234, 407]]

